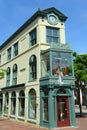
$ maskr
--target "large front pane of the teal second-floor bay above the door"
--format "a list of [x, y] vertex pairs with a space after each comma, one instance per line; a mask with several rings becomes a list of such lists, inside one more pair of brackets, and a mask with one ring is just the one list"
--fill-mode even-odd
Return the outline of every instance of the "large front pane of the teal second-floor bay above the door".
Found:
[[68, 52], [52, 52], [52, 74], [72, 76], [72, 57]]

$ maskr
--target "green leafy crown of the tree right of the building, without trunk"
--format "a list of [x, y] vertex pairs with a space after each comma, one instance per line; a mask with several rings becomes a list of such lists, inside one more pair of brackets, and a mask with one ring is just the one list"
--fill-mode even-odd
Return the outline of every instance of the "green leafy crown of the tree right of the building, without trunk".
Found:
[[77, 55], [76, 52], [73, 53], [74, 56], [74, 74], [76, 81], [83, 81], [87, 83], [87, 54]]

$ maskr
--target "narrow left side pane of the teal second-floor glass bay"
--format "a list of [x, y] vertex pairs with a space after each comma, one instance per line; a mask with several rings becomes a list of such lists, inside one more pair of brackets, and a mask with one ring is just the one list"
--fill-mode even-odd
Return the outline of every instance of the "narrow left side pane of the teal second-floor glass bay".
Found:
[[41, 60], [41, 74], [42, 77], [49, 76], [50, 74], [50, 58], [49, 53], [44, 53]]

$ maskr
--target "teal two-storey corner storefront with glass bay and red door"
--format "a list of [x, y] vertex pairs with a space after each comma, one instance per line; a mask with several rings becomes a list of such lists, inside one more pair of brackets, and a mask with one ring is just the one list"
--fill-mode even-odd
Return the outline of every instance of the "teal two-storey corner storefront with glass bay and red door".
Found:
[[48, 128], [75, 126], [72, 51], [66, 45], [41, 53], [40, 124]]

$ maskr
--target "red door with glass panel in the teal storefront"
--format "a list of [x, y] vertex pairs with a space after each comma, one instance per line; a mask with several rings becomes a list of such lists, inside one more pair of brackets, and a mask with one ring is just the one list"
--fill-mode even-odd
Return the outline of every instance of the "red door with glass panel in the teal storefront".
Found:
[[68, 97], [57, 97], [57, 124], [60, 127], [70, 125]]

